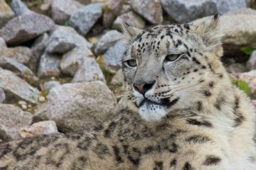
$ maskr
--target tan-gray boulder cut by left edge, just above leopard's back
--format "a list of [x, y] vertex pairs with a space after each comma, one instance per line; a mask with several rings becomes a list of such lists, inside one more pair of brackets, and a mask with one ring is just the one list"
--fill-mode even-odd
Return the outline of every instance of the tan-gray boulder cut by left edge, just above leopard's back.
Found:
[[33, 115], [9, 104], [0, 104], [0, 139], [4, 142], [21, 139], [19, 130], [32, 123]]

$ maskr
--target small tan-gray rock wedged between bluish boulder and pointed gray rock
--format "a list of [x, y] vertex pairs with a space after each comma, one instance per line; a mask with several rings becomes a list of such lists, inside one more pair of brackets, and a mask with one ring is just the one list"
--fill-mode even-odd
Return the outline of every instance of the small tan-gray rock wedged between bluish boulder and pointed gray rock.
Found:
[[89, 56], [92, 56], [90, 49], [87, 47], [76, 47], [63, 55], [60, 61], [60, 69], [63, 73], [74, 76], [82, 61]]

